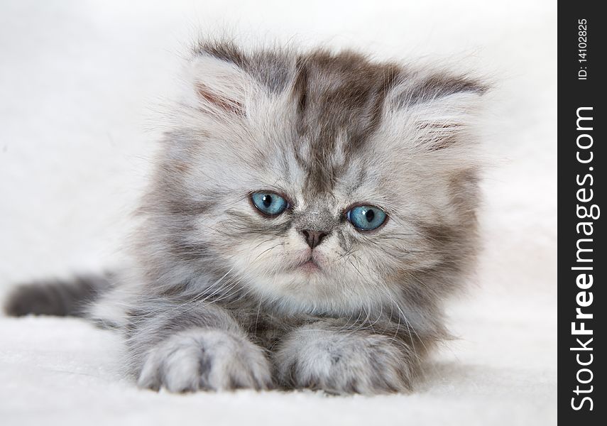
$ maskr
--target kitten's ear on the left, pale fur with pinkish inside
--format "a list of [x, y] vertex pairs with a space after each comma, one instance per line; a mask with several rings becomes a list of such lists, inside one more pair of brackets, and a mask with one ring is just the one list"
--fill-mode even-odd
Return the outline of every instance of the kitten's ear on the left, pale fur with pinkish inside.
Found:
[[190, 63], [191, 82], [199, 109], [219, 114], [245, 114], [253, 81], [236, 63], [201, 53]]

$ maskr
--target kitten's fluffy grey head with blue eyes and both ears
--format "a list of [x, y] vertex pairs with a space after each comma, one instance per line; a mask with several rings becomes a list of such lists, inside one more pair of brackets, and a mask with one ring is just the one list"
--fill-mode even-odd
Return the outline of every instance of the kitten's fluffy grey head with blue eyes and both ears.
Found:
[[328, 314], [457, 285], [479, 82], [229, 44], [201, 45], [189, 74], [146, 203], [143, 256], [168, 285]]

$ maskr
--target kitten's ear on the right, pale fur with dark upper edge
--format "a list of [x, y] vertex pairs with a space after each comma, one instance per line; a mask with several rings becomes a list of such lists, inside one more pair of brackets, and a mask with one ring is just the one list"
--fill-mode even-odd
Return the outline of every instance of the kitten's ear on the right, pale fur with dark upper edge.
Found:
[[486, 84], [469, 77], [432, 74], [396, 85], [389, 99], [417, 148], [437, 151], [467, 143], [481, 109]]

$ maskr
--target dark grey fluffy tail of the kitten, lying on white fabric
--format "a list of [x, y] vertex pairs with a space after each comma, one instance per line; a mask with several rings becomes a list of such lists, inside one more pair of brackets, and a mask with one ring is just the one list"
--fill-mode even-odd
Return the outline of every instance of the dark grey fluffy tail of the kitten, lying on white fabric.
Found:
[[37, 281], [19, 285], [6, 299], [7, 315], [83, 317], [88, 305], [112, 288], [113, 275], [84, 275], [72, 280]]

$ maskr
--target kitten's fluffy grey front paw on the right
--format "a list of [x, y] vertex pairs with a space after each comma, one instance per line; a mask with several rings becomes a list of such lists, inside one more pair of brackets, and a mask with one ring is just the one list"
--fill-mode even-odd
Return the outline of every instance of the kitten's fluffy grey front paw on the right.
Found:
[[275, 354], [278, 380], [287, 388], [327, 393], [410, 391], [410, 363], [405, 351], [379, 334], [301, 329]]

